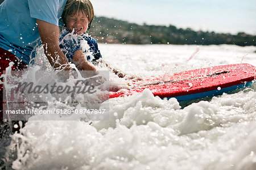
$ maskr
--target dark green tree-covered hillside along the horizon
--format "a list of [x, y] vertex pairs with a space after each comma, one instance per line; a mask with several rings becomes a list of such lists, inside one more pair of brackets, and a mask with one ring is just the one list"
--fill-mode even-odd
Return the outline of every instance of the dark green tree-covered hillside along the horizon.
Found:
[[123, 20], [95, 17], [89, 32], [99, 43], [123, 44], [236, 44], [256, 45], [256, 36], [193, 31], [175, 26], [139, 25]]

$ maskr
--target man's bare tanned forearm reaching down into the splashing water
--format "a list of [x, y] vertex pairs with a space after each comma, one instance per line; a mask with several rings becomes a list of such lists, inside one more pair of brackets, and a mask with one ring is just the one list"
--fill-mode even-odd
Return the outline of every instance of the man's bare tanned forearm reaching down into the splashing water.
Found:
[[36, 19], [36, 22], [49, 63], [55, 69], [70, 70], [68, 59], [59, 47], [59, 27], [40, 19]]

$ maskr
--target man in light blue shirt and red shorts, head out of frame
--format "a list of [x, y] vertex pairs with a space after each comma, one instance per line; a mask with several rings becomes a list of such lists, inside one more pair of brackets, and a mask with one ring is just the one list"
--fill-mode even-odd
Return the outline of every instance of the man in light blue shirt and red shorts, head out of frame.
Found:
[[[30, 54], [38, 39], [55, 69], [70, 70], [68, 59], [59, 47], [59, 19], [67, 0], [5, 0], [0, 5], [0, 76], [12, 63], [22, 70], [30, 63]], [[2, 78], [1, 78], [2, 81]], [[1, 114], [3, 90], [0, 85]]]

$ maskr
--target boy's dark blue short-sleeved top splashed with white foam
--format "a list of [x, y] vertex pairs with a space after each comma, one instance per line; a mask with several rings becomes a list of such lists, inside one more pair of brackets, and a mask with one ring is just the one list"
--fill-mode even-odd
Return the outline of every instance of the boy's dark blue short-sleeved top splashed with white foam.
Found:
[[60, 35], [59, 45], [69, 62], [72, 61], [75, 51], [79, 49], [82, 50], [88, 61], [94, 62], [102, 57], [96, 40], [86, 34], [76, 35], [63, 30]]

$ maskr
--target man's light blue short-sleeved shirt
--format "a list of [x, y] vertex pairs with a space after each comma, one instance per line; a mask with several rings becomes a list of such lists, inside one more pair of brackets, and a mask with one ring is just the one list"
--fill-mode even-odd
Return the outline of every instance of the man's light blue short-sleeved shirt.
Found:
[[36, 19], [59, 26], [67, 0], [8, 0], [0, 5], [0, 48], [29, 64], [40, 40]]

